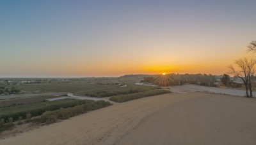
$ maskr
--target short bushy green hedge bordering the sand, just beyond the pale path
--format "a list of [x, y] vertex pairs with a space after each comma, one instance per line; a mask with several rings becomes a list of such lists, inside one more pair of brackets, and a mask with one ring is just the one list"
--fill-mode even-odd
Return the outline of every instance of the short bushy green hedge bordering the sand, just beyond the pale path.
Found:
[[148, 92], [141, 92], [141, 93], [133, 93], [133, 94], [126, 94], [126, 95], [116, 95], [111, 97], [109, 100], [113, 100], [115, 102], [126, 102], [128, 100], [140, 99], [144, 97], [149, 97], [153, 95], [160, 95], [163, 93], [170, 93], [169, 90], [150, 90]]

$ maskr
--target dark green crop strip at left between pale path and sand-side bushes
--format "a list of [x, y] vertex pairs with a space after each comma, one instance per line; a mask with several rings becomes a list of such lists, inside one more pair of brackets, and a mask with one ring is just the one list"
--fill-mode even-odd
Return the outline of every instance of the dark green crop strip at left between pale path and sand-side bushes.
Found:
[[30, 118], [33, 116], [39, 116], [45, 111], [54, 111], [60, 109], [61, 107], [74, 107], [90, 102], [93, 101], [65, 99], [52, 102], [36, 102], [32, 104], [22, 104], [12, 107], [0, 107], [0, 118], [3, 118], [5, 122], [8, 122], [9, 118], [13, 118], [13, 120], [19, 120], [20, 117], [28, 118], [28, 116]]

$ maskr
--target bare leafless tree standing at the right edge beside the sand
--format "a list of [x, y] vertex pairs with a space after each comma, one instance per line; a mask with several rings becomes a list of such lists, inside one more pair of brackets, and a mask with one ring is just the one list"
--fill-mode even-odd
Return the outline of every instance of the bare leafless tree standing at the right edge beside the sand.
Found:
[[[228, 66], [230, 73], [241, 78], [243, 80], [246, 97], [252, 97], [253, 86], [255, 85], [255, 59], [248, 59], [244, 57], [243, 59], [235, 60], [236, 68], [233, 65]], [[248, 94], [250, 91], [250, 95]]]

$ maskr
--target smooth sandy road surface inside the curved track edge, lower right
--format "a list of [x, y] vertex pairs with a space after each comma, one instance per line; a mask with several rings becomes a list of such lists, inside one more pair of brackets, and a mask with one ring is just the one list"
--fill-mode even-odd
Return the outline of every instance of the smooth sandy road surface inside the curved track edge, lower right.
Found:
[[210, 94], [180, 101], [148, 116], [118, 144], [256, 144], [255, 105]]

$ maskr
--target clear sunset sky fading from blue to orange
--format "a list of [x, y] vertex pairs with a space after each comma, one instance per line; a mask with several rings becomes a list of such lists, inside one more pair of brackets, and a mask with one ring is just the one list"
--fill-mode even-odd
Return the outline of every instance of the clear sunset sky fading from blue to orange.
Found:
[[256, 1], [0, 1], [0, 77], [223, 74]]

